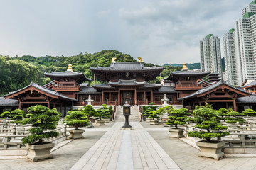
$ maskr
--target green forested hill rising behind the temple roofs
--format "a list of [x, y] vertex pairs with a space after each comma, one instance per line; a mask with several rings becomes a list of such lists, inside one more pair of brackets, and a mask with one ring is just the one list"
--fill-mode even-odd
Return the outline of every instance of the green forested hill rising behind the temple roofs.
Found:
[[[72, 64], [74, 72], [84, 72], [86, 77], [92, 78], [90, 67], [110, 67], [111, 59], [117, 58], [117, 62], [135, 62], [133, 57], [115, 50], [103, 50], [90, 54], [85, 52], [79, 55], [33, 57], [9, 57], [0, 55], [0, 96], [9, 91], [16, 91], [31, 83], [43, 85], [50, 81], [43, 75], [44, 72], [64, 72], [68, 64]], [[154, 64], [144, 63], [146, 66]], [[167, 77], [171, 71], [181, 70], [181, 67], [165, 66], [162, 77]], [[159, 83], [159, 78], [155, 82]], [[97, 81], [99, 83], [99, 81]]]

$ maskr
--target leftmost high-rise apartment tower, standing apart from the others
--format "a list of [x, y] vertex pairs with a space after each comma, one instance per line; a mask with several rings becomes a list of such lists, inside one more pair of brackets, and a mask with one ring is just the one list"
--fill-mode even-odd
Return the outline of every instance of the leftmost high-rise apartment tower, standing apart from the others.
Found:
[[222, 74], [220, 38], [213, 34], [207, 35], [200, 41], [201, 69], [204, 72], [215, 72]]

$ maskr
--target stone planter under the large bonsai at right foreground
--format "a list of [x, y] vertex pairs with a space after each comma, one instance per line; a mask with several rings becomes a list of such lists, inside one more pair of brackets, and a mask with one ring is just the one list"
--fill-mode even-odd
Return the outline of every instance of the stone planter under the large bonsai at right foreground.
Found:
[[196, 145], [201, 149], [199, 156], [201, 157], [210, 157], [213, 159], [220, 159], [224, 157], [224, 153], [221, 151], [224, 146], [223, 141], [211, 141], [206, 142], [206, 140], [201, 140], [196, 142]]

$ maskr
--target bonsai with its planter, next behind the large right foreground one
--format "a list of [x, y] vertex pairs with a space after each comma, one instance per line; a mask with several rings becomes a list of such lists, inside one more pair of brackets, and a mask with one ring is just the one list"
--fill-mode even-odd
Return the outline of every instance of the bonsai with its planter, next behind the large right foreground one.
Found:
[[184, 137], [183, 136], [183, 129], [178, 128], [178, 125], [184, 125], [188, 121], [188, 109], [186, 108], [179, 108], [174, 109], [171, 111], [171, 115], [168, 117], [166, 121], [166, 125], [174, 125], [175, 128], [169, 128], [169, 132], [171, 133], [170, 137]]

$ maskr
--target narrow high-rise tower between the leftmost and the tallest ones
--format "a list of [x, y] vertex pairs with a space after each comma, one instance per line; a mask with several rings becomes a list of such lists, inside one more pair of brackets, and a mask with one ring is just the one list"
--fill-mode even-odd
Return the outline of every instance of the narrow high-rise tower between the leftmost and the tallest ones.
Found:
[[225, 81], [233, 86], [238, 86], [234, 33], [235, 29], [230, 29], [228, 33], [225, 33], [225, 35], [223, 35]]

